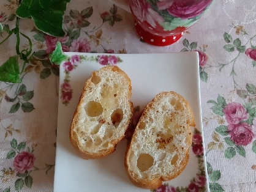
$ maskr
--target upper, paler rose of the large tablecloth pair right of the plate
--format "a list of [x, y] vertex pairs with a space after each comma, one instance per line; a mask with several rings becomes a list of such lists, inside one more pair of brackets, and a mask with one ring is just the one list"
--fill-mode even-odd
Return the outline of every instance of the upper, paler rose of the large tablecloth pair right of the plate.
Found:
[[247, 120], [249, 114], [240, 103], [232, 102], [223, 109], [228, 124], [239, 124], [241, 120]]

